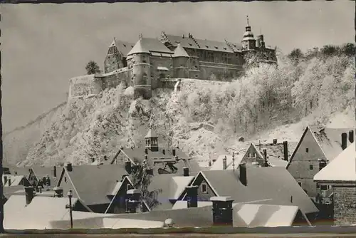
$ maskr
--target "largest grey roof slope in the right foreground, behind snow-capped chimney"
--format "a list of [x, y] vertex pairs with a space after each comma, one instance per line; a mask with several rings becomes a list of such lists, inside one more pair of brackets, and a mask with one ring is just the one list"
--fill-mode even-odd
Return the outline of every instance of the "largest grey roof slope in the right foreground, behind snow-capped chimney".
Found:
[[[302, 212], [318, 212], [308, 195], [283, 167], [248, 167], [247, 186], [241, 184], [238, 172], [213, 170], [202, 172], [219, 196], [231, 196], [235, 202], [258, 202], [271, 205], [296, 205]], [[224, 186], [221, 186], [224, 181]], [[290, 202], [293, 197], [293, 202]]]

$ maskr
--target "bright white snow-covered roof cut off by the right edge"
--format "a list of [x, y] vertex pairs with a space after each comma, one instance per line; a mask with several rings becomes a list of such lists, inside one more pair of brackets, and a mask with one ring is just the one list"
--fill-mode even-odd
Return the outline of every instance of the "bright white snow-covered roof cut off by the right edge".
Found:
[[352, 143], [315, 176], [315, 181], [356, 182], [356, 144]]

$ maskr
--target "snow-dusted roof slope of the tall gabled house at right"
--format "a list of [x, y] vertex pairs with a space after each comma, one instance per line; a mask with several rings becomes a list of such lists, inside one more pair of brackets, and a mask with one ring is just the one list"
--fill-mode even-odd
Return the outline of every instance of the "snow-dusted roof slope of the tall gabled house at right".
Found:
[[347, 145], [350, 145], [348, 133], [350, 130], [355, 131], [355, 128], [324, 128], [321, 130], [310, 128], [310, 130], [313, 132], [315, 139], [318, 140], [320, 148], [328, 160], [333, 160], [342, 152], [341, 134], [347, 133]]

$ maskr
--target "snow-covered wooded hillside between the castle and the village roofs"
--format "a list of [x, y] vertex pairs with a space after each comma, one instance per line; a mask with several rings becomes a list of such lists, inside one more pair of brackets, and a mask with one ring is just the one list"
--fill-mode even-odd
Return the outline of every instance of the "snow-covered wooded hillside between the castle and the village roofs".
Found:
[[201, 159], [252, 141], [298, 141], [306, 125], [355, 127], [354, 78], [355, 60], [334, 56], [261, 66], [231, 83], [197, 81], [177, 94], [157, 90], [151, 100], [132, 100], [132, 88], [118, 86], [4, 135], [4, 154], [21, 165], [88, 163], [121, 146], [142, 146], [149, 125], [159, 143]]

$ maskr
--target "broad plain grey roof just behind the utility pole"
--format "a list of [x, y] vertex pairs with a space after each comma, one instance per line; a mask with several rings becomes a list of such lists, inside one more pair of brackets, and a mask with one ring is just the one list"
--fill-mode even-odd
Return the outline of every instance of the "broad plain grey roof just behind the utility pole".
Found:
[[68, 175], [85, 205], [99, 205], [110, 203], [107, 196], [127, 172], [122, 165], [78, 165]]

